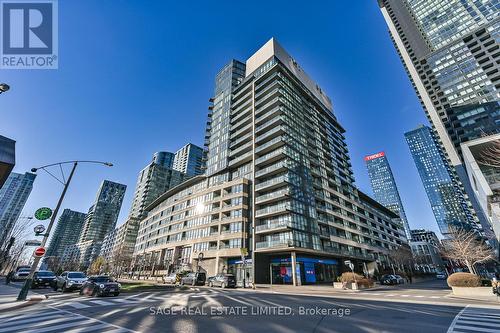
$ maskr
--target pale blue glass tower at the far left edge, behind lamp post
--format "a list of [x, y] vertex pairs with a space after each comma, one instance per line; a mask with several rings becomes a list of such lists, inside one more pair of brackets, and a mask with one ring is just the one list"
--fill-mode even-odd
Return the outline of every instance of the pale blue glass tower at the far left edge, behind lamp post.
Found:
[[9, 240], [24, 204], [33, 189], [36, 175], [12, 172], [0, 188], [0, 248]]

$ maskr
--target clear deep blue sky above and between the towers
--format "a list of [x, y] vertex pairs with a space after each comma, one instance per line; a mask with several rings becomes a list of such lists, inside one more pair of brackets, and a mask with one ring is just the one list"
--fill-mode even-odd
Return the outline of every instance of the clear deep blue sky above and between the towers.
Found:
[[[371, 193], [363, 157], [388, 155], [412, 228], [437, 225], [404, 140], [427, 123], [376, 0], [61, 1], [59, 69], [0, 71], [0, 134], [17, 141], [15, 171], [81, 165], [63, 208], [86, 212], [99, 183], [128, 186], [155, 151], [203, 142], [214, 77], [275, 37], [331, 97], [347, 130], [356, 183]], [[54, 207], [61, 185], [40, 173], [25, 207]]]

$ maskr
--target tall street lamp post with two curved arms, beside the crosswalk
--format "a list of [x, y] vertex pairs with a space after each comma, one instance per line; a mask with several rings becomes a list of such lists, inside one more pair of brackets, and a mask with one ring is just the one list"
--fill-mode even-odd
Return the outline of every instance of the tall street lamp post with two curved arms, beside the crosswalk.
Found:
[[[54, 213], [52, 214], [52, 216], [50, 218], [50, 222], [49, 222], [49, 225], [47, 227], [47, 231], [43, 235], [42, 243], [40, 245], [41, 247], [45, 247], [45, 244], [47, 243], [47, 240], [48, 240], [49, 235], [50, 235], [50, 230], [52, 229], [52, 226], [53, 226], [53, 224], [54, 224], [54, 222], [56, 220], [57, 213], [59, 212], [59, 208], [61, 207], [61, 204], [62, 204], [62, 202], [64, 200], [64, 196], [66, 195], [66, 191], [68, 190], [68, 186], [69, 186], [69, 184], [71, 182], [71, 179], [73, 178], [73, 174], [75, 173], [75, 169], [76, 169], [76, 166], [78, 165], [78, 163], [97, 163], [97, 164], [103, 164], [103, 165], [106, 165], [106, 166], [113, 166], [113, 164], [111, 164], [109, 162], [98, 162], [98, 161], [67, 161], [67, 162], [60, 162], [60, 163], [49, 164], [49, 165], [45, 165], [45, 166], [39, 167], [39, 168], [33, 168], [33, 169], [31, 169], [31, 171], [32, 172], [36, 172], [38, 169], [44, 169], [46, 167], [50, 167], [50, 166], [54, 166], [54, 165], [61, 166], [62, 164], [70, 164], [70, 163], [73, 164], [73, 168], [71, 168], [71, 172], [70, 172], [70, 174], [68, 176], [68, 180], [63, 183], [64, 184], [64, 189], [63, 189], [63, 191], [61, 193], [61, 196], [59, 197], [59, 200], [57, 201], [57, 205], [56, 205], [56, 208], [54, 209]], [[35, 274], [35, 271], [36, 271], [36, 268], [38, 266], [38, 263], [40, 262], [40, 259], [41, 259], [41, 257], [35, 257], [35, 260], [33, 260], [33, 264], [31, 265], [30, 274], [28, 275], [28, 278], [24, 282], [23, 288], [21, 289], [21, 291], [19, 292], [19, 295], [17, 296], [17, 300], [18, 301], [24, 301], [24, 300], [26, 300], [26, 296], [28, 296], [28, 291], [29, 291], [29, 289], [31, 287], [31, 283], [33, 281], [33, 275]]]

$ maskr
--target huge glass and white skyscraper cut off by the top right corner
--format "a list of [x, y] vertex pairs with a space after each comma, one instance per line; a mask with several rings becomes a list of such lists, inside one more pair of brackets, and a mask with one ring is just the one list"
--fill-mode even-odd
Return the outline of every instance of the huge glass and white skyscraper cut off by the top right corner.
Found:
[[378, 0], [422, 106], [483, 228], [460, 145], [500, 132], [498, 0]]

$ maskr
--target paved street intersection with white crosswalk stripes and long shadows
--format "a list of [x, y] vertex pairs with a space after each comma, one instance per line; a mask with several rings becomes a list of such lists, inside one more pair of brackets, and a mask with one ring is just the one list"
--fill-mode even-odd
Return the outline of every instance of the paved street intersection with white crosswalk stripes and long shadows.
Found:
[[51, 293], [40, 305], [0, 315], [0, 333], [499, 332], [500, 305], [448, 293], [437, 284], [341, 296], [210, 288], [104, 298]]

